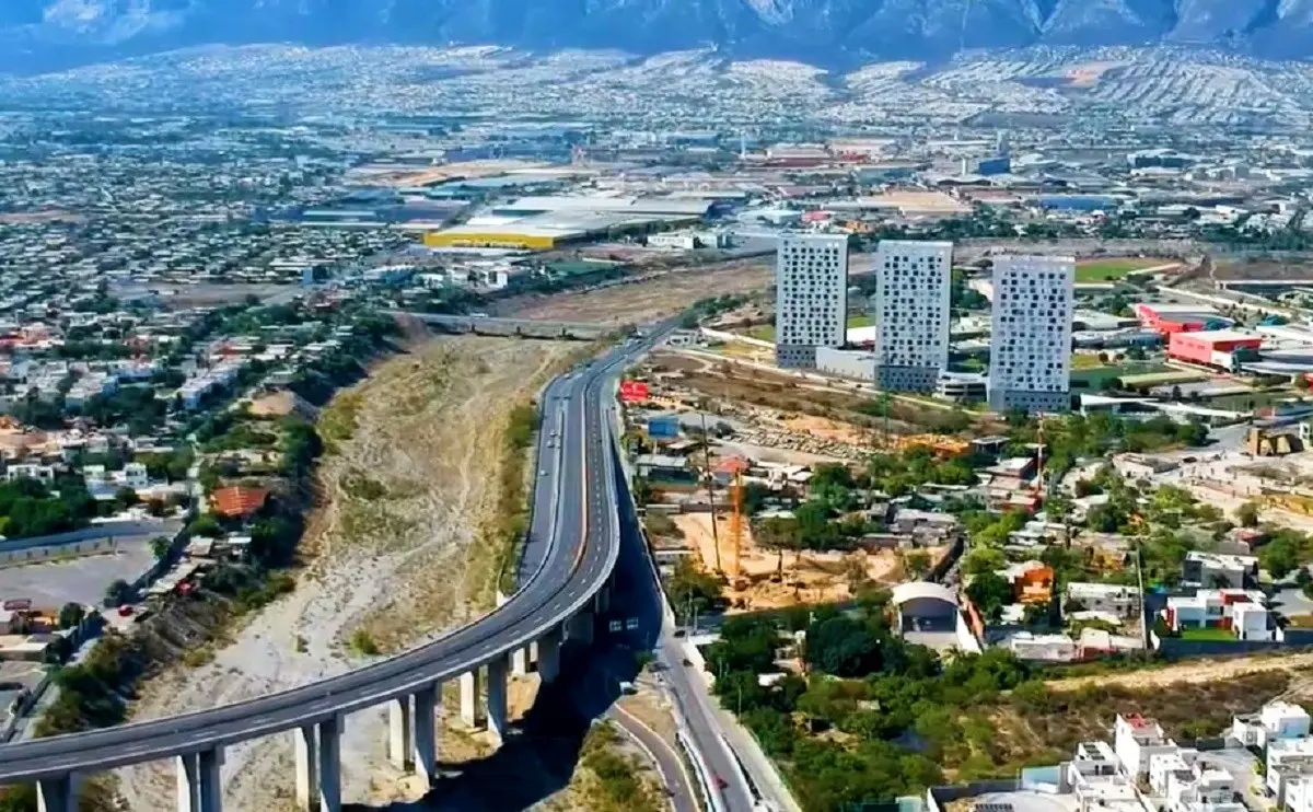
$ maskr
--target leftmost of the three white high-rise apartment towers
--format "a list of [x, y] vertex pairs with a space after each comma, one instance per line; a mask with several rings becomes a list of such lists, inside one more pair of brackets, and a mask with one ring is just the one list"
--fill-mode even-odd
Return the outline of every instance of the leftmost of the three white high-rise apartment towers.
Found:
[[817, 347], [843, 347], [848, 327], [848, 237], [784, 234], [775, 264], [775, 363], [814, 369]]

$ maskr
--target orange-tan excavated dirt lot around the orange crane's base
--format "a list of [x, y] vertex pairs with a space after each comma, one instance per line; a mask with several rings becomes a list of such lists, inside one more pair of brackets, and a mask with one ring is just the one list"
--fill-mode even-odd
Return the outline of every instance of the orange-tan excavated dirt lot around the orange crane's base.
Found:
[[[712, 535], [709, 514], [687, 514], [672, 516], [675, 526], [684, 535], [685, 543], [697, 552], [704, 569], [716, 569], [716, 539]], [[744, 523], [746, 524], [746, 523]], [[726, 573], [734, 573], [734, 554], [730, 548], [730, 523], [727, 516], [718, 515], [716, 533], [720, 537], [721, 565]], [[943, 554], [943, 549], [928, 549], [931, 560]], [[743, 528], [742, 551], [738, 558], [741, 578], [730, 577], [725, 597], [737, 610], [764, 610], [797, 606], [800, 603], [827, 603], [847, 600], [852, 597], [848, 589], [850, 569], [861, 566], [868, 579], [877, 583], [898, 583], [903, 581], [902, 562], [898, 553], [881, 551], [878, 553], [805, 552], [794, 556], [784, 553], [784, 578], [779, 583], [772, 577], [780, 568], [780, 554], [776, 551], [758, 547], [750, 527]]]

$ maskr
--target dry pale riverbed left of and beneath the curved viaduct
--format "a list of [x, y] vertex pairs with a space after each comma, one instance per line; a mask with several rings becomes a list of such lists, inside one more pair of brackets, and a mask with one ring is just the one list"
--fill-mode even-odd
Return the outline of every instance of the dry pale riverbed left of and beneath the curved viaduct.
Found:
[[[154, 679], [134, 719], [210, 708], [340, 674], [369, 660], [358, 650], [358, 629], [379, 650], [406, 648], [488, 608], [496, 553], [475, 541], [498, 503], [504, 418], [578, 348], [500, 338], [429, 340], [340, 395], [323, 418], [331, 422], [324, 428], [332, 451], [320, 469], [323, 507], [307, 531], [303, 549], [311, 560], [297, 590], [236, 631], [211, 664]], [[516, 681], [513, 713], [532, 704], [534, 686]], [[347, 800], [377, 803], [414, 791], [385, 762], [385, 731], [382, 708], [348, 719], [341, 741]], [[444, 736], [444, 759], [490, 748], [479, 734]], [[290, 805], [290, 737], [231, 748], [226, 757], [227, 808]], [[142, 765], [119, 775], [134, 812], [175, 808], [172, 765]]]

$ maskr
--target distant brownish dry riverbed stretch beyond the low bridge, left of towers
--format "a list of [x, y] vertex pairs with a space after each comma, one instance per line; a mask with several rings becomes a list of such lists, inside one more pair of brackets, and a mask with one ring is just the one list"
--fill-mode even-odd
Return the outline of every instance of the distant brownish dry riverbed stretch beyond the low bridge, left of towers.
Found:
[[678, 313], [700, 298], [752, 293], [772, 284], [768, 259], [734, 260], [714, 267], [681, 268], [642, 281], [575, 293], [508, 300], [499, 313], [544, 321], [641, 323]]

